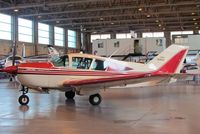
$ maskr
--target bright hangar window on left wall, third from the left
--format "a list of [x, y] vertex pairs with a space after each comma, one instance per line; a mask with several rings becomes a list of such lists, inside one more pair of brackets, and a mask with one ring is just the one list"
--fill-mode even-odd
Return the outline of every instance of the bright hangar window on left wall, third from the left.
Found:
[[38, 23], [38, 43], [49, 44], [50, 27], [47, 24]]

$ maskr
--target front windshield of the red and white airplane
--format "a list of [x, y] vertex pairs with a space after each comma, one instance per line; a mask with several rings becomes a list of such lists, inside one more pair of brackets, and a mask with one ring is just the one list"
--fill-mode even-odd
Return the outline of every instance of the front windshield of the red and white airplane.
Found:
[[58, 59], [53, 60], [52, 62], [54, 64], [54, 66], [56, 66], [56, 67], [66, 67], [66, 66], [69, 66], [68, 55], [61, 56]]

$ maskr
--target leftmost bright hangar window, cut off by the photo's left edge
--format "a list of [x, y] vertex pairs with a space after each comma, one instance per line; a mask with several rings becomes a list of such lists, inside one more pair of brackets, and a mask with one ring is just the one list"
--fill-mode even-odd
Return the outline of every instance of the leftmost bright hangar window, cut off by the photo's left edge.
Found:
[[11, 16], [6, 14], [0, 14], [0, 39], [11, 40], [11, 27]]

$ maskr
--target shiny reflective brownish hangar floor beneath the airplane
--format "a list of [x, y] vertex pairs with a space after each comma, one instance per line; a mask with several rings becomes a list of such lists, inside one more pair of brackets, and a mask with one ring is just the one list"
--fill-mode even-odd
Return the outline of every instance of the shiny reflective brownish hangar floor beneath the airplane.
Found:
[[100, 106], [87, 96], [29, 93], [20, 106], [18, 84], [0, 80], [0, 134], [196, 134], [200, 131], [198, 84], [110, 89]]

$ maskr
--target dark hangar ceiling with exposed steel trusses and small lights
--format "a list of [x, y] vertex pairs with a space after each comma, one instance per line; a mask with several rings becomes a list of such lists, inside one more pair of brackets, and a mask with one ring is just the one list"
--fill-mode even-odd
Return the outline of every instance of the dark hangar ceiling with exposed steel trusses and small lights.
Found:
[[200, 0], [0, 0], [0, 12], [91, 33], [200, 28]]

